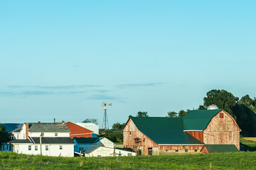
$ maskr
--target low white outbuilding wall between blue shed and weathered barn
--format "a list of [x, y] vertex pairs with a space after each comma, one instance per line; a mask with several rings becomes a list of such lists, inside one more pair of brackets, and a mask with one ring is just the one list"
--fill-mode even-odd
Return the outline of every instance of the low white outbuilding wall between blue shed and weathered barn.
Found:
[[124, 151], [120, 149], [113, 149], [108, 147], [99, 147], [95, 149], [90, 154], [85, 154], [85, 157], [113, 157], [113, 153], [116, 153], [116, 157], [119, 157], [119, 153], [121, 154], [121, 157], [128, 156], [128, 154], [132, 154], [131, 156], [136, 156], [137, 154], [134, 152]]

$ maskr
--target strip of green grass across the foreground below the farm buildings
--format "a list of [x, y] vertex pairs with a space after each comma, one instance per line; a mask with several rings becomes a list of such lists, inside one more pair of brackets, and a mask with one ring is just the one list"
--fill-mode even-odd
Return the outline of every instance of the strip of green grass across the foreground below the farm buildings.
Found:
[[90, 158], [0, 152], [0, 169], [256, 169], [256, 152]]

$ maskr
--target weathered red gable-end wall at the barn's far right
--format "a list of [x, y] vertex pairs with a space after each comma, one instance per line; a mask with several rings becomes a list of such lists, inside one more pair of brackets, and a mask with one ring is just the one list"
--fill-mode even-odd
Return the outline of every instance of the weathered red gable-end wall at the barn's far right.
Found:
[[240, 128], [228, 113], [220, 111], [203, 130], [203, 142], [206, 145], [235, 145], [240, 150]]

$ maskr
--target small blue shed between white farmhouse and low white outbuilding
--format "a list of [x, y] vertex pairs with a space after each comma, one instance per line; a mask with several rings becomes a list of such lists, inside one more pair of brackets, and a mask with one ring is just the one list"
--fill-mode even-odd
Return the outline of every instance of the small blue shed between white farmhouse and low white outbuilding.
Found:
[[74, 137], [75, 142], [74, 151], [75, 152], [85, 152], [91, 147], [100, 147], [99, 137]]

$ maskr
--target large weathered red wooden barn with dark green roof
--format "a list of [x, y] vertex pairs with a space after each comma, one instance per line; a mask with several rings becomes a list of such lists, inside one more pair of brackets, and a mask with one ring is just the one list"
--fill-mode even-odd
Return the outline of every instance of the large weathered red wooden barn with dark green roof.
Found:
[[124, 147], [143, 155], [199, 153], [204, 145], [240, 149], [240, 131], [222, 109], [190, 111], [183, 118], [132, 117], [124, 126]]

